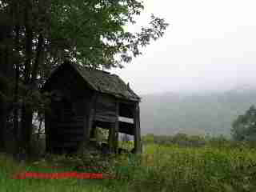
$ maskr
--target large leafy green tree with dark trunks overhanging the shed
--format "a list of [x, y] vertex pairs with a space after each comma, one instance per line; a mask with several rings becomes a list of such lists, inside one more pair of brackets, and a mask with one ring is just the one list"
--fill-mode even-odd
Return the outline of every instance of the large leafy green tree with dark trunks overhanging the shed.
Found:
[[94, 68], [122, 67], [162, 37], [168, 24], [154, 15], [141, 32], [124, 30], [142, 10], [137, 0], [0, 0], [0, 73], [8, 69], [6, 78], [14, 79], [14, 94], [2, 95], [10, 98], [17, 126], [21, 118], [22, 147], [29, 151], [33, 114], [44, 104], [40, 86], [64, 59]]

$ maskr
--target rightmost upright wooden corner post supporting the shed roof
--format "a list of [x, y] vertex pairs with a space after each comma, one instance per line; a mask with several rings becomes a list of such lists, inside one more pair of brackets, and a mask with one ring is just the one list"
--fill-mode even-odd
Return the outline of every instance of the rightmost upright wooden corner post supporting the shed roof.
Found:
[[136, 154], [142, 153], [140, 114], [138, 102], [136, 102], [134, 106], [134, 150]]

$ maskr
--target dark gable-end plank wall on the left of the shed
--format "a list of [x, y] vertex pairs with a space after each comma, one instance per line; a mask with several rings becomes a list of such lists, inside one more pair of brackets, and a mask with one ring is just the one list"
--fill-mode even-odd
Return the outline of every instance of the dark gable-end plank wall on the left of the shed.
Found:
[[86, 117], [94, 91], [86, 89], [86, 84], [80, 80], [76, 73], [62, 71], [62, 76], [55, 77], [47, 87], [48, 91], [62, 95], [62, 101], [52, 99], [51, 113], [46, 114], [48, 151], [74, 152], [86, 138]]

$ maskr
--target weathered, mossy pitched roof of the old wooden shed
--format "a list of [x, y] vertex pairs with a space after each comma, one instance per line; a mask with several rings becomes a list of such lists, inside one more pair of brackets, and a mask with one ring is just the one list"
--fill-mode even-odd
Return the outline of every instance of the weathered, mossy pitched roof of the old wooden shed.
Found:
[[[104, 70], [95, 70], [93, 68], [80, 66], [74, 62], [64, 62], [63, 66], [71, 66], [75, 71], [90, 85], [93, 90], [104, 94], [111, 94], [116, 98], [123, 98], [131, 101], [140, 101], [140, 98], [130, 86], [126, 85], [116, 74], [110, 74]], [[58, 66], [52, 74], [58, 73]], [[52, 76], [50, 75], [50, 77]], [[48, 78], [49, 80], [50, 78]], [[48, 82], [46, 81], [46, 83]]]

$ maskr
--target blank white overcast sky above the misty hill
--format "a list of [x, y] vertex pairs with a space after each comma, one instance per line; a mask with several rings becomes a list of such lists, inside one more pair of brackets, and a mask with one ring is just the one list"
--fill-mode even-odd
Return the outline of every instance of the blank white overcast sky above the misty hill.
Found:
[[138, 94], [256, 84], [256, 1], [145, 0], [145, 6], [138, 26], [153, 13], [170, 23], [165, 36], [125, 69], [112, 70]]

